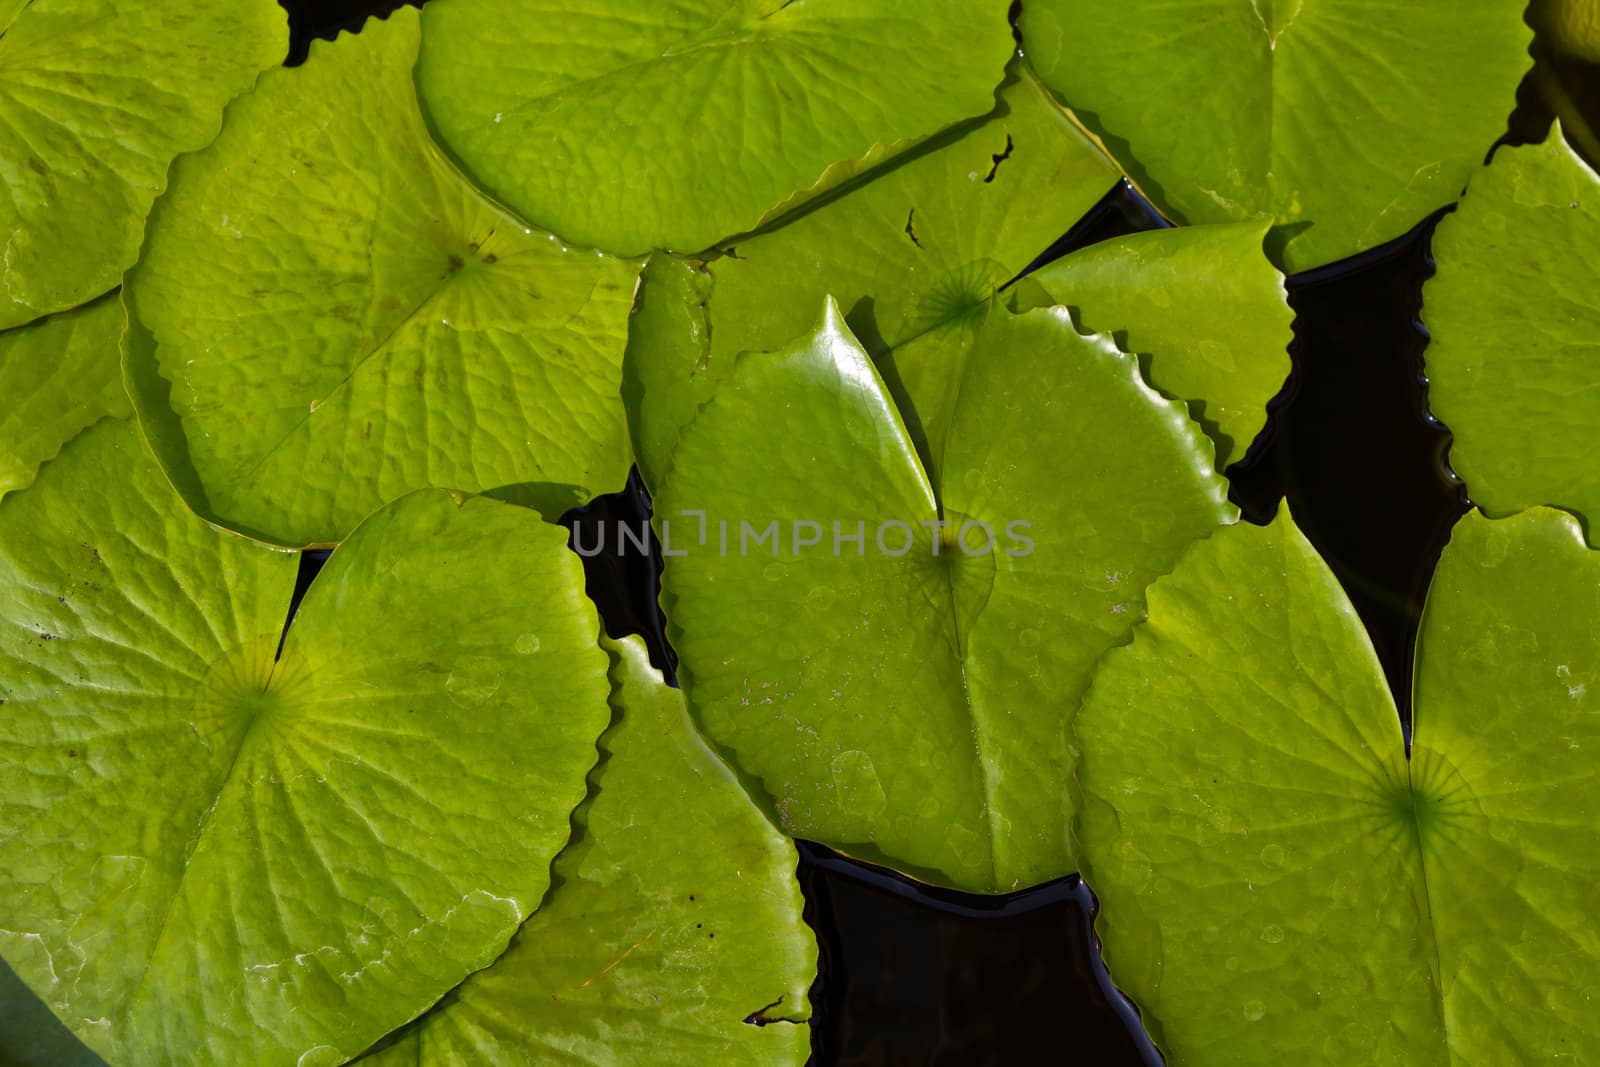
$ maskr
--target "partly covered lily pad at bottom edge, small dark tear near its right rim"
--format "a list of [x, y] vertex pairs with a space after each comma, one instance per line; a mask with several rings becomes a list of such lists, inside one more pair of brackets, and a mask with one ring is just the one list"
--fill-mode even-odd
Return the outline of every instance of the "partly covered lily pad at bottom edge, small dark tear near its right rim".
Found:
[[616, 720], [555, 888], [494, 966], [370, 1067], [806, 1062], [816, 944], [794, 845], [643, 643], [602, 643]]

